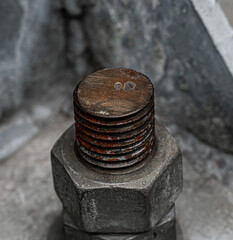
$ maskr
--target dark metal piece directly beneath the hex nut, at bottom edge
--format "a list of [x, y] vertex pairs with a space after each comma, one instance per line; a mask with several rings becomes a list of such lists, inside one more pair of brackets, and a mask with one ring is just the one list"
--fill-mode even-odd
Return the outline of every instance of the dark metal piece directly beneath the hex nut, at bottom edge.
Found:
[[161, 219], [159, 224], [148, 232], [136, 234], [104, 234], [80, 231], [69, 215], [63, 212], [63, 223], [66, 240], [176, 240], [175, 207]]

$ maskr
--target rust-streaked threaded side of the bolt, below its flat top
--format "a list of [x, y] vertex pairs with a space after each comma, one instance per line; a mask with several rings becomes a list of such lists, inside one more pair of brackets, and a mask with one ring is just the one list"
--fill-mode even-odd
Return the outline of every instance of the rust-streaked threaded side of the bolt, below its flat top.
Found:
[[154, 144], [153, 93], [139, 111], [123, 117], [100, 117], [81, 106], [79, 86], [74, 90], [74, 115], [80, 157], [108, 169], [129, 167], [145, 159]]

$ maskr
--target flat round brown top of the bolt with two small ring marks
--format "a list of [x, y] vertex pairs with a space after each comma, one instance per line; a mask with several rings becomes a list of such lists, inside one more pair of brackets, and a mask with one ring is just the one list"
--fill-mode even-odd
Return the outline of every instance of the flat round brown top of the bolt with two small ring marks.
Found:
[[142, 73], [125, 68], [106, 68], [88, 75], [75, 94], [87, 113], [118, 118], [137, 113], [153, 97], [153, 85]]

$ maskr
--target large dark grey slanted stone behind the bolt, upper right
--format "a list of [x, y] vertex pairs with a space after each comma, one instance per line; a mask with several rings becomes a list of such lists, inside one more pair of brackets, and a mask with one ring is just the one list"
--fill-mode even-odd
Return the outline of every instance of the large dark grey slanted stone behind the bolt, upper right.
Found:
[[160, 116], [233, 150], [232, 75], [191, 1], [101, 0], [87, 8], [96, 61], [145, 73]]

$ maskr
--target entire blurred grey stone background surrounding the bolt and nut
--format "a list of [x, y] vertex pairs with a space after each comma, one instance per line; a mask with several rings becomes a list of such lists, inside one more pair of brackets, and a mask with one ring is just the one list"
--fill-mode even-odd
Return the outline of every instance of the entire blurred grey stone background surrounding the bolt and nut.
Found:
[[[184, 240], [233, 238], [233, 1], [0, 1], [0, 239], [59, 239], [50, 149], [72, 91], [105, 67], [141, 71], [184, 161]], [[58, 235], [56, 235], [58, 234]]]

